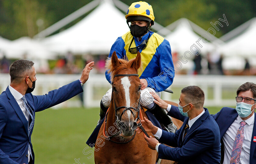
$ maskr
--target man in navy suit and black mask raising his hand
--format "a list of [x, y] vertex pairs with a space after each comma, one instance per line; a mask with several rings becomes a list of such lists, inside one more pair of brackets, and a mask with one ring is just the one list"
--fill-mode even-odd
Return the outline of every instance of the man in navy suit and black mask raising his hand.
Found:
[[82, 85], [88, 80], [94, 65], [84, 68], [81, 78], [45, 95], [34, 96], [36, 71], [34, 63], [16, 60], [10, 66], [11, 83], [0, 95], [0, 163], [34, 164], [31, 134], [35, 112], [50, 108], [83, 92]]

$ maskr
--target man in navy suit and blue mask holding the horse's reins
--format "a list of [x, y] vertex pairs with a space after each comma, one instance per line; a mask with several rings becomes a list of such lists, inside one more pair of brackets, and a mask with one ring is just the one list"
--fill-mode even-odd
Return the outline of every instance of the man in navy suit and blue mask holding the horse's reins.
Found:
[[[162, 109], [176, 109], [184, 117], [183, 125], [175, 133], [166, 132], [154, 126], [144, 118], [142, 126], [159, 139], [146, 137], [148, 147], [157, 150], [160, 159], [168, 159], [182, 163], [216, 164], [220, 163], [220, 132], [219, 127], [208, 109], [203, 108], [204, 92], [198, 86], [188, 86], [181, 90], [179, 107], [169, 105], [154, 94], [155, 103]], [[169, 112], [168, 112], [169, 114]], [[142, 131], [137, 128], [138, 134]]]

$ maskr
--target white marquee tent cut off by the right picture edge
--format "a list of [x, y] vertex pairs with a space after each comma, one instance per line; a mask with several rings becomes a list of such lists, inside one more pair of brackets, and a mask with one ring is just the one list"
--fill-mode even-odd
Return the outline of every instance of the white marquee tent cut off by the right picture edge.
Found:
[[219, 49], [225, 57], [223, 65], [226, 69], [244, 69], [245, 59], [249, 60], [250, 65], [256, 65], [256, 18], [245, 22], [222, 38], [231, 38]]

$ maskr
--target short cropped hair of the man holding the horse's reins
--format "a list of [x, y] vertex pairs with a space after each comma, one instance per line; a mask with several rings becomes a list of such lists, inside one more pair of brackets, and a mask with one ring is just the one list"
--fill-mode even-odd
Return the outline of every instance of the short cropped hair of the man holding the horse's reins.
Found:
[[204, 91], [195, 85], [187, 86], [181, 90], [185, 94], [185, 102], [193, 104], [196, 108], [204, 106]]

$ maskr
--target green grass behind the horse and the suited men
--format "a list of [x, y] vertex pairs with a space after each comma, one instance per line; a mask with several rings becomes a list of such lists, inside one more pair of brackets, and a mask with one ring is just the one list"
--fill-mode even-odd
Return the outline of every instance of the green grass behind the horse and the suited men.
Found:
[[[207, 107], [211, 114], [221, 107]], [[86, 141], [99, 119], [98, 108], [46, 109], [36, 113], [32, 135], [36, 164], [93, 164], [84, 155]], [[89, 148], [92, 150], [91, 148]], [[86, 152], [89, 151], [86, 149]]]

